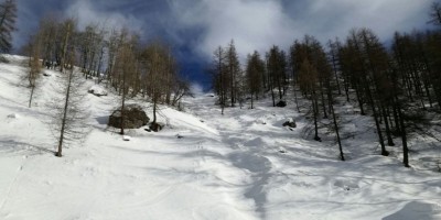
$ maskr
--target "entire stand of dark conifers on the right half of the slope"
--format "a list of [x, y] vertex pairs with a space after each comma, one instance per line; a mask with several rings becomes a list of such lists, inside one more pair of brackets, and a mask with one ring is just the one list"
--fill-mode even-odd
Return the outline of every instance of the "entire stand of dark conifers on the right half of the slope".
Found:
[[[432, 6], [430, 22], [441, 25], [439, 3]], [[215, 91], [223, 108], [227, 100], [233, 107], [237, 99], [234, 95], [239, 95], [240, 90], [250, 98], [251, 108], [255, 98], [268, 92], [276, 106], [277, 99], [284, 99], [291, 84], [298, 111], [304, 109], [311, 116], [314, 140], [321, 141], [319, 122], [332, 117], [327, 121], [335, 131], [343, 161], [341, 124], [334, 109], [338, 97], [338, 100], [354, 101], [362, 116], [373, 117], [380, 154], [387, 156], [386, 145], [395, 145], [394, 136], [399, 136], [404, 164], [409, 166], [408, 133], [427, 123], [428, 116], [441, 112], [440, 38], [440, 31], [396, 32], [387, 48], [372, 30], [353, 29], [344, 42], [336, 38], [324, 47], [306, 35], [302, 41], [294, 41], [288, 56], [278, 46], [266, 53], [265, 61], [254, 52], [248, 55], [245, 72], [240, 70], [232, 43], [227, 48], [215, 51]], [[237, 84], [234, 79], [244, 79], [244, 82]], [[299, 92], [309, 105], [299, 107]]]

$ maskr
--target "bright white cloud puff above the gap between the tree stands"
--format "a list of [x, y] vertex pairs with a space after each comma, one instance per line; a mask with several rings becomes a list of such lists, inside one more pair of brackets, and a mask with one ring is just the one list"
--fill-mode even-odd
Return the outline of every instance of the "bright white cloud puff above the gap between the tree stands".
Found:
[[174, 1], [171, 7], [181, 25], [204, 28], [196, 50], [206, 56], [233, 38], [244, 56], [254, 50], [267, 51], [271, 44], [292, 42], [291, 21], [279, 1], [203, 0], [196, 4]]

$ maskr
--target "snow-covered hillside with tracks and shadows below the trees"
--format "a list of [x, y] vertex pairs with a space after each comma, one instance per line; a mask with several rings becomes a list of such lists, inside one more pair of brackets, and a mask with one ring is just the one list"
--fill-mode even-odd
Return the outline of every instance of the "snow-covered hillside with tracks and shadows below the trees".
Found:
[[[303, 139], [308, 124], [292, 106], [266, 100], [220, 116], [214, 97], [186, 98], [185, 112], [161, 107], [163, 131], [130, 130], [123, 141], [106, 125], [118, 98], [87, 95], [90, 132], [55, 157], [44, 103], [60, 74], [46, 70], [28, 108], [23, 58], [9, 58], [0, 64], [0, 219], [441, 219], [439, 143], [421, 142], [405, 168], [399, 146], [380, 156], [366, 130], [345, 140], [341, 162], [333, 142]], [[282, 123], [292, 118], [291, 131]], [[347, 132], [369, 123], [351, 120]]]

